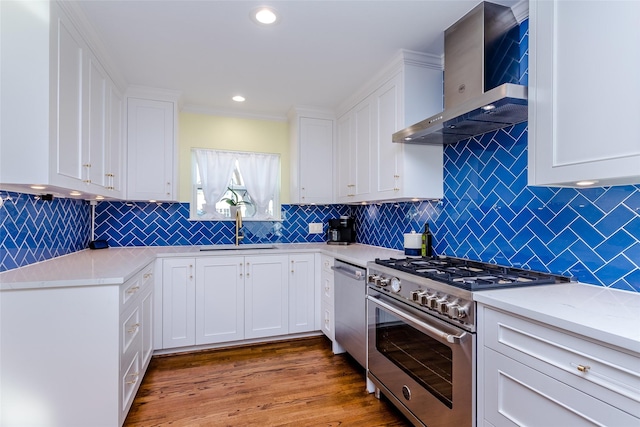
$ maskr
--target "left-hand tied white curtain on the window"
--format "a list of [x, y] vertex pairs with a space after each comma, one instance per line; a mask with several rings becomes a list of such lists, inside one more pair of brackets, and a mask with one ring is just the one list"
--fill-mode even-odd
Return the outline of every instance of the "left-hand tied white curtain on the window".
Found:
[[202, 219], [222, 219], [216, 203], [227, 191], [235, 167], [236, 153], [216, 150], [196, 150], [200, 182], [204, 193], [205, 214]]

